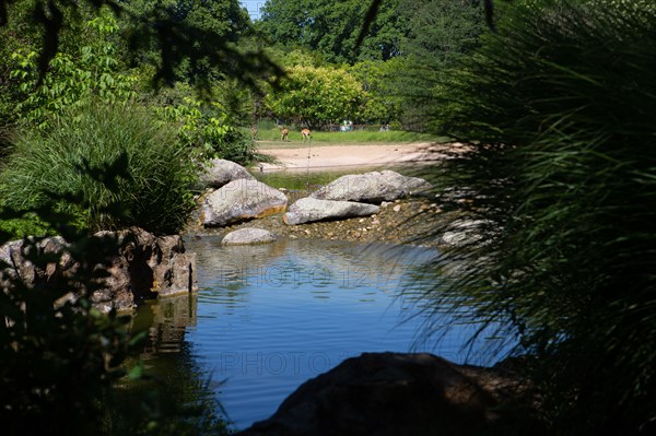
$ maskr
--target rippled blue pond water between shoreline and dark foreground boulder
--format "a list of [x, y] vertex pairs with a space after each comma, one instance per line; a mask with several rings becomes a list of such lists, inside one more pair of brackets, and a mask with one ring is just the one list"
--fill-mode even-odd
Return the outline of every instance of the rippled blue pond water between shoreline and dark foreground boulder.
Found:
[[150, 323], [149, 365], [171, 365], [179, 354], [189, 370], [211, 374], [211, 391], [236, 429], [267, 419], [302, 382], [363, 352], [466, 360], [461, 346], [471, 326], [450, 329], [437, 347], [421, 341], [415, 296], [440, 285], [423, 268], [435, 250], [312, 239], [220, 243], [219, 236], [185, 240], [198, 256], [198, 293], [151, 302], [140, 316]]

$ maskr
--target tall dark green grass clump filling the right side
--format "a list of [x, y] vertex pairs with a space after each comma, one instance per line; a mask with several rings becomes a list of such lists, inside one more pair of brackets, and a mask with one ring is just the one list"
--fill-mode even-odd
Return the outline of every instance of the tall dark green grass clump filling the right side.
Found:
[[553, 433], [647, 434], [656, 10], [647, 0], [524, 1], [500, 15], [436, 105], [441, 132], [476, 144], [443, 177], [485, 244], [445, 252], [437, 268], [452, 281], [426, 295], [427, 333], [444, 305], [502, 320], [515, 353], [530, 356]]

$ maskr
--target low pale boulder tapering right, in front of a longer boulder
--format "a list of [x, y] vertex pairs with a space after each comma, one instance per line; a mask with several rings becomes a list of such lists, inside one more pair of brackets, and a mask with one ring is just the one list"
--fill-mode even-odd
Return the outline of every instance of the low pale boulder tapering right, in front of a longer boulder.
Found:
[[354, 201], [319, 200], [305, 197], [290, 205], [283, 216], [283, 221], [285, 224], [296, 225], [313, 221], [368, 216], [378, 213], [379, 210], [380, 208], [375, 204], [358, 203]]

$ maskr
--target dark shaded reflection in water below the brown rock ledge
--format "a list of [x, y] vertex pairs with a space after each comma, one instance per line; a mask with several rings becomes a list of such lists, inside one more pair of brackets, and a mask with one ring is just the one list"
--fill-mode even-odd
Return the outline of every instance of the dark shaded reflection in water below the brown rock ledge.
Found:
[[108, 412], [116, 434], [129, 420], [156, 423], [175, 434], [227, 434], [227, 419], [215, 393], [221, 380], [212, 380], [198, 365], [185, 341], [187, 327], [197, 325], [196, 309], [196, 293], [149, 301], [140, 307], [132, 329], [148, 332], [141, 353], [145, 377], [125, 380], [119, 393], [122, 405]]

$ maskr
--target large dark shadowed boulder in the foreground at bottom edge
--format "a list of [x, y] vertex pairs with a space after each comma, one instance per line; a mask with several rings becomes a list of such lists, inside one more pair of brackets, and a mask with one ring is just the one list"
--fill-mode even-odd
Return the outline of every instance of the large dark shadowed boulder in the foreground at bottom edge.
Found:
[[504, 408], [526, 392], [493, 368], [425, 353], [364, 353], [301, 385], [271, 417], [237, 435], [491, 435], [509, 434], [508, 423], [513, 434], [540, 434], [529, 408]]

